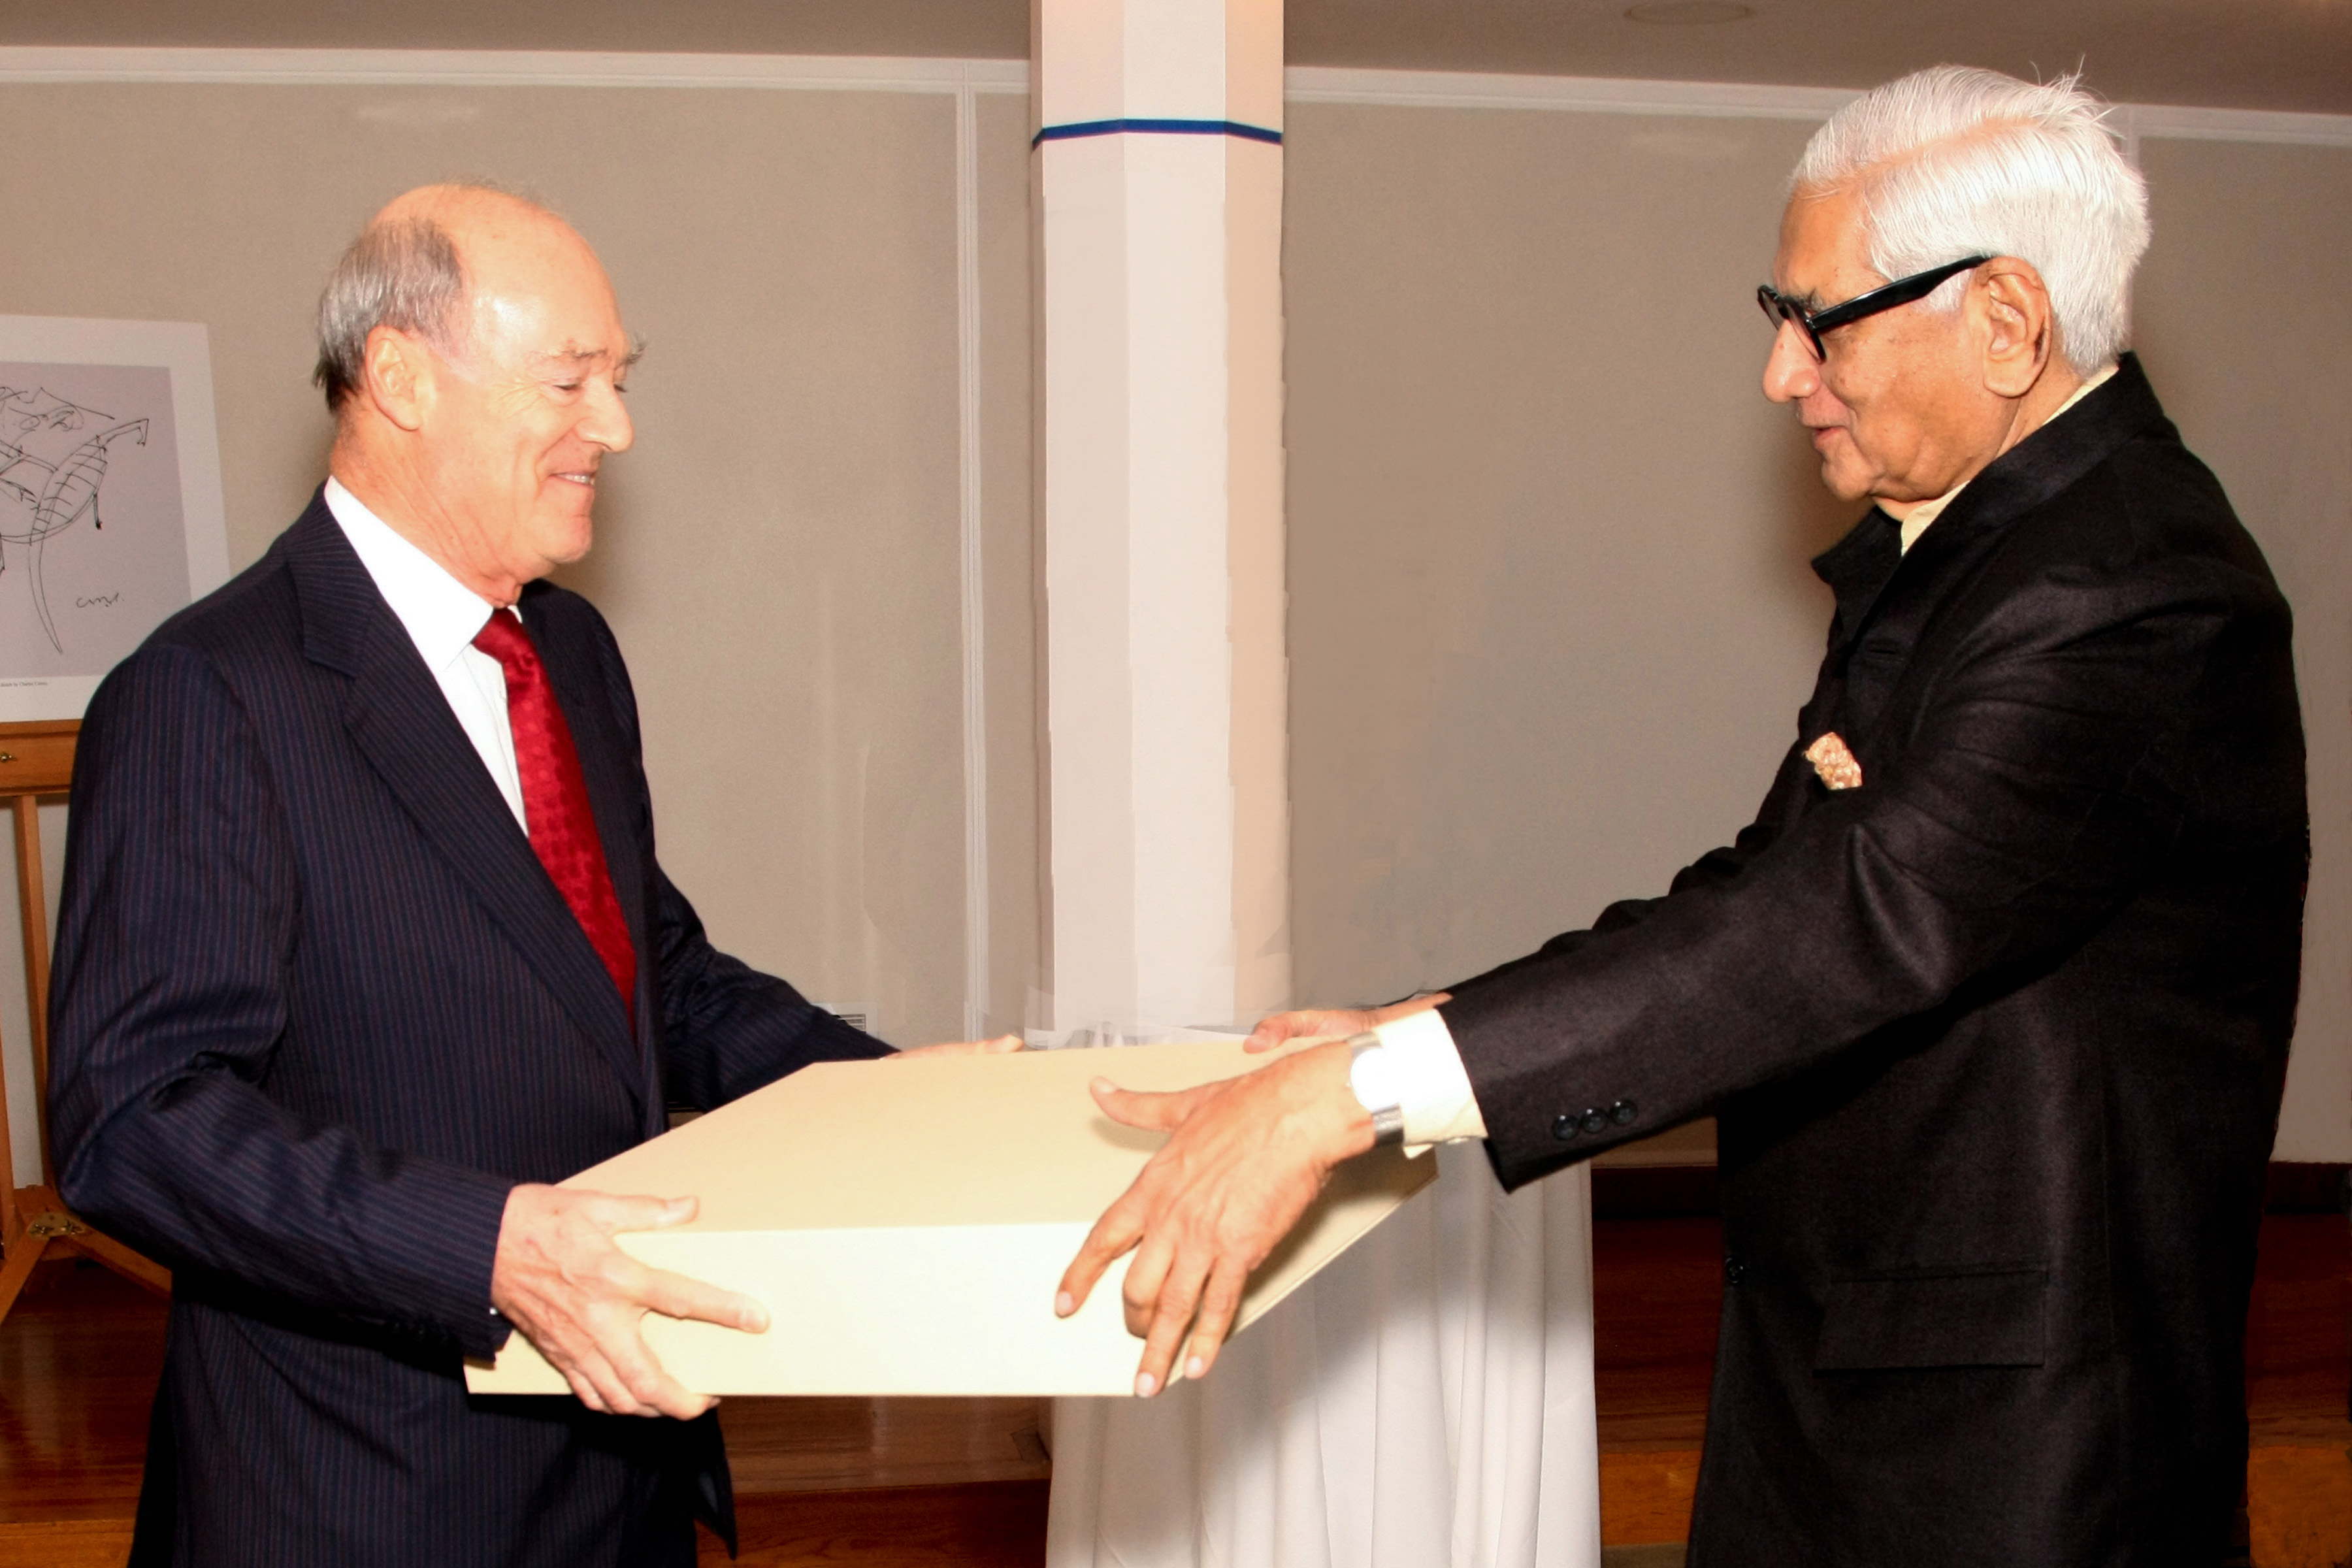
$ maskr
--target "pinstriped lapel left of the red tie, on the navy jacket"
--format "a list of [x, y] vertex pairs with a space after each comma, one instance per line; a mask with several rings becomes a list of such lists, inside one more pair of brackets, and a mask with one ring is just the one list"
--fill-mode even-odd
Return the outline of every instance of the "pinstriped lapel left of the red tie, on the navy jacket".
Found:
[[[350, 677], [343, 724], [416, 830], [473, 891], [640, 1100], [644, 1053], [621, 997], [322, 498], [287, 534], [303, 651]], [[602, 813], [597, 813], [602, 827]], [[609, 842], [609, 839], [607, 839]], [[626, 907], [626, 905], [623, 905]]]

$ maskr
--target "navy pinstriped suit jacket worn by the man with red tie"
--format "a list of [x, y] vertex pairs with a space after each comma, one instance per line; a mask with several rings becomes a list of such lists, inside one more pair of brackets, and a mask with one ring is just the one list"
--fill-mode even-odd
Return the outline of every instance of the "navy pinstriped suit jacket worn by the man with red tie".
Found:
[[691, 1563], [727, 1512], [710, 1420], [466, 1396], [506, 1194], [884, 1046], [710, 947], [612, 632], [520, 609], [635, 1016], [322, 498], [89, 703], [49, 1114], [66, 1201], [174, 1269], [141, 1561]]

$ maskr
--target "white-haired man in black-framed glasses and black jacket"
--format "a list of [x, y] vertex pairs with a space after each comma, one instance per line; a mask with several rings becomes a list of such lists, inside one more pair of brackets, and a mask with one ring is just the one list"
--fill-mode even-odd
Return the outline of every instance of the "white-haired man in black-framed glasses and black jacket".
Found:
[[[1334, 1161], [1505, 1185], [1717, 1114], [1693, 1563], [2216, 1563], [2307, 865], [2288, 609], [2122, 353], [2145, 190], [2072, 82], [1936, 68], [1792, 181], [1764, 390], [1872, 510], [1757, 820], [1588, 931], [1185, 1095], [1063, 1309], [1207, 1371]], [[1183, 1356], [1178, 1366], [1178, 1352]]]

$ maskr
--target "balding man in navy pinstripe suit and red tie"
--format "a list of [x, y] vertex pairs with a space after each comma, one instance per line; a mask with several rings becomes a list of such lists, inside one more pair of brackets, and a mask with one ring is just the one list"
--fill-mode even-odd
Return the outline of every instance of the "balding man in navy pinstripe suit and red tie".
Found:
[[[614, 1244], [691, 1197], [550, 1182], [887, 1046], [703, 938], [621, 649], [541, 581], [588, 550], [633, 360], [560, 219], [400, 197], [320, 303], [332, 477], [89, 705], [49, 1103], [68, 1201], [174, 1269], [136, 1563], [731, 1533], [710, 1401], [637, 1321], [764, 1309]], [[576, 1401], [468, 1399], [510, 1328]]]

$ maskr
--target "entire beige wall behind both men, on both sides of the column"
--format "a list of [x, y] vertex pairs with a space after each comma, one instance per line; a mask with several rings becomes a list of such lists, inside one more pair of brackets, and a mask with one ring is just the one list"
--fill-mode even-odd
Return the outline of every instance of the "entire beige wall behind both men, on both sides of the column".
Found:
[[[990, 1027], [1040, 985], [1028, 101], [976, 110]], [[1851, 517], [1757, 393], [1795, 120], [1294, 103], [1301, 999], [1411, 990], [1653, 891], [1748, 818]], [[960, 1030], [955, 99], [12, 87], [49, 172], [0, 310], [212, 329], [235, 564], [315, 484], [308, 306], [388, 193], [574, 214], [652, 353], [567, 574], [715, 938], [901, 1041]], [[2281, 1154], [2352, 1157], [2352, 153], [2150, 141], [2143, 346], [2300, 614], [2319, 872]], [[2258, 280], [2258, 282], [2249, 282]], [[54, 818], [54, 813], [52, 813]], [[14, 940], [0, 1041], [28, 1112]], [[19, 992], [21, 994], [21, 992]]]

